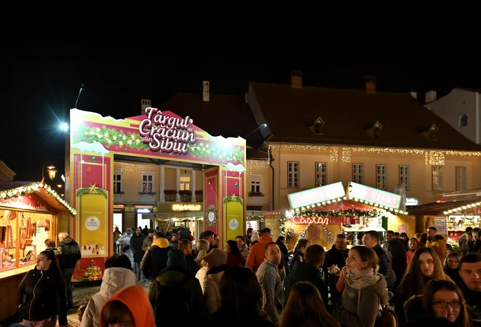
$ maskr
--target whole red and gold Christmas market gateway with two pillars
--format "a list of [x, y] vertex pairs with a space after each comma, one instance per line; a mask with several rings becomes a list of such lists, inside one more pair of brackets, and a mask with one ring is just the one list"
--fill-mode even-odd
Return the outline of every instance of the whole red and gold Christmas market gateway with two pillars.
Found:
[[113, 253], [115, 155], [202, 164], [205, 229], [226, 240], [245, 226], [245, 139], [212, 136], [190, 117], [147, 108], [146, 115], [114, 119], [71, 109], [66, 146], [66, 199], [78, 212], [70, 233], [82, 247], [74, 277], [92, 260], [103, 268]]

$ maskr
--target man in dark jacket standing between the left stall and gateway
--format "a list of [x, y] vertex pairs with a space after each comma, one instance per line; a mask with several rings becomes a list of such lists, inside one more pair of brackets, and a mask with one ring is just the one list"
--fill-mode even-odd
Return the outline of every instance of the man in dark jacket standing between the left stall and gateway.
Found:
[[58, 234], [58, 240], [58, 251], [60, 251], [60, 255], [65, 258], [65, 267], [62, 267], [60, 273], [62, 274], [63, 282], [65, 282], [67, 304], [69, 309], [71, 309], [74, 308], [71, 280], [74, 275], [77, 261], [82, 258], [82, 254], [80, 253], [80, 247], [78, 247], [76, 241], [74, 241], [67, 232], [61, 232]]

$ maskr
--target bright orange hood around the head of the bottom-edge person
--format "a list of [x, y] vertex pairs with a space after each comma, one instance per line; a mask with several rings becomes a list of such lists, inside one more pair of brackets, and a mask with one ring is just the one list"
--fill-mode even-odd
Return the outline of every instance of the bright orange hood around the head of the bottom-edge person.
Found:
[[[133, 300], [135, 299], [135, 300]], [[148, 302], [147, 293], [142, 286], [128, 286], [112, 295], [103, 308], [111, 301], [122, 302], [129, 311], [135, 322], [135, 326], [153, 326], [155, 327], [154, 315], [152, 313], [152, 306]], [[83, 326], [83, 323], [82, 323]], [[100, 327], [108, 327], [109, 324], [105, 321], [102, 313], [100, 313]]]

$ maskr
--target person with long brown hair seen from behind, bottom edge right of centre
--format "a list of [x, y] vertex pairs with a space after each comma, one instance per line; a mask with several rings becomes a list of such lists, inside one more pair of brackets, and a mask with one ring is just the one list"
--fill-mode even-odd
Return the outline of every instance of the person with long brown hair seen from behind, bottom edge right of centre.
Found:
[[280, 327], [341, 327], [322, 302], [315, 286], [309, 282], [295, 283], [282, 313]]

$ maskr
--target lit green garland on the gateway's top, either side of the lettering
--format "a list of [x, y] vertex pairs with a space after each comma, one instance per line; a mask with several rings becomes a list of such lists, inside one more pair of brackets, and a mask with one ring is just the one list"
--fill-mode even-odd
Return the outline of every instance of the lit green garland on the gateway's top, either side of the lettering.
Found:
[[[136, 133], [124, 133], [117, 131], [114, 128], [107, 128], [107, 126], [91, 127], [81, 126], [75, 142], [100, 143], [106, 146], [119, 146], [134, 150], [150, 150], [148, 144], [144, 143], [142, 135]], [[213, 157], [216, 159], [225, 160], [225, 162], [243, 162], [244, 150], [242, 148], [225, 149], [220, 147], [212, 147], [209, 144], [201, 142], [195, 144], [187, 144], [187, 148], [193, 156], [199, 158]]]

